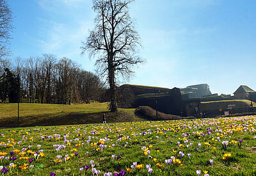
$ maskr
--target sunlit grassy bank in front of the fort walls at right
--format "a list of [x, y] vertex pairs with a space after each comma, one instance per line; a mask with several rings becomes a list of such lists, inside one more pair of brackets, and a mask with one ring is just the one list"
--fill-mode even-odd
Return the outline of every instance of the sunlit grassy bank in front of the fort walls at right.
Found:
[[[236, 104], [236, 108], [250, 108], [250, 100], [220, 100], [211, 102], [201, 102], [203, 111], [215, 110], [215, 109], [227, 109], [228, 104]], [[253, 102], [253, 107], [256, 107], [256, 103]]]

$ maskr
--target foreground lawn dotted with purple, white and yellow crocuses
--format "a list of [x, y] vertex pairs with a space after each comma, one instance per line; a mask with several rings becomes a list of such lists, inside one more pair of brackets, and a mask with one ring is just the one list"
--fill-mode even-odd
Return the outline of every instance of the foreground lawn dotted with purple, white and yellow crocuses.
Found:
[[1, 129], [5, 175], [255, 175], [256, 116]]

